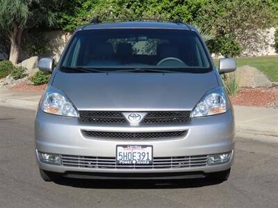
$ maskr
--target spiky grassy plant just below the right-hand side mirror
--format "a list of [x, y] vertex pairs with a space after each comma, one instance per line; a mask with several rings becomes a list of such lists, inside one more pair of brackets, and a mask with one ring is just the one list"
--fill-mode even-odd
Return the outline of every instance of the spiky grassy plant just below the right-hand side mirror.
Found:
[[224, 74], [222, 76], [222, 80], [226, 92], [227, 94], [229, 94], [229, 96], [234, 96], [238, 93], [240, 87], [239, 87], [238, 76], [236, 76], [235, 72]]

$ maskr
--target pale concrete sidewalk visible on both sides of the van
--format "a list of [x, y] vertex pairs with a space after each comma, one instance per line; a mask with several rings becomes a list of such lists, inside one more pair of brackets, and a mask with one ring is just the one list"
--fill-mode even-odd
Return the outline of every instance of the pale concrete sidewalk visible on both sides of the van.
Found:
[[[0, 89], [0, 106], [36, 110], [42, 92]], [[239, 137], [278, 142], [278, 109], [234, 106]]]

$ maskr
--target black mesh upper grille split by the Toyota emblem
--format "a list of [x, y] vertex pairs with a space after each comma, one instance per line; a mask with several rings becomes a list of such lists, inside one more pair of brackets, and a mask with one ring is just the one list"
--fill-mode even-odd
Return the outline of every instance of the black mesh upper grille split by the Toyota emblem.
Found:
[[[128, 123], [122, 112], [79, 111], [79, 121], [91, 123]], [[190, 111], [147, 112], [142, 123], [186, 123], [190, 121]]]

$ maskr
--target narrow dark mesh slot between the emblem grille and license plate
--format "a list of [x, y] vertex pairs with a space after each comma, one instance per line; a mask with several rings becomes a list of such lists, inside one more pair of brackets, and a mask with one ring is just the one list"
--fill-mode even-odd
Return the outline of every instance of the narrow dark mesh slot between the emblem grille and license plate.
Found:
[[169, 139], [182, 137], [186, 131], [178, 132], [96, 132], [82, 130], [84, 137], [106, 139]]

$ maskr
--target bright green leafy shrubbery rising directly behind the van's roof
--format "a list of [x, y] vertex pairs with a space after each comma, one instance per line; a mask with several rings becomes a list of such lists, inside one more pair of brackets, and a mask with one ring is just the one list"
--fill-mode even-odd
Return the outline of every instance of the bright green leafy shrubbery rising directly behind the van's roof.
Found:
[[60, 28], [73, 31], [93, 17], [147, 17], [193, 22], [209, 0], [70, 0], [58, 12]]

